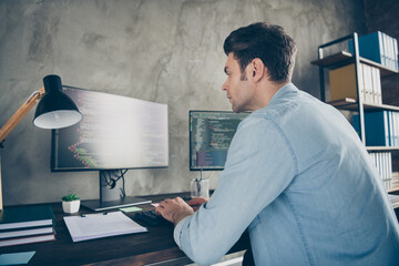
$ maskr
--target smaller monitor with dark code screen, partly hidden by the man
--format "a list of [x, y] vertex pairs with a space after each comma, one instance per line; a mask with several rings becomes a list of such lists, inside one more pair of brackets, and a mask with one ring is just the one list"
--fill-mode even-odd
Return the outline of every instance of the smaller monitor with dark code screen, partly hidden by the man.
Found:
[[190, 170], [223, 170], [237, 126], [248, 114], [190, 111]]

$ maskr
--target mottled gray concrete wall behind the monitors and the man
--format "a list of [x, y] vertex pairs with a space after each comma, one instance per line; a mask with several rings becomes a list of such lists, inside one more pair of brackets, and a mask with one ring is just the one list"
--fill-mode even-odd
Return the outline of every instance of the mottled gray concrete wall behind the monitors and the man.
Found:
[[[228, 33], [255, 21], [296, 40], [294, 83], [319, 96], [317, 45], [365, 30], [361, 0], [1, 0], [0, 125], [42, 78], [168, 104], [170, 167], [127, 172], [129, 195], [190, 190], [188, 110], [229, 110], [221, 90]], [[98, 172], [50, 172], [50, 131], [31, 111], [1, 151], [4, 204], [99, 196]], [[212, 186], [219, 172], [206, 172]]]

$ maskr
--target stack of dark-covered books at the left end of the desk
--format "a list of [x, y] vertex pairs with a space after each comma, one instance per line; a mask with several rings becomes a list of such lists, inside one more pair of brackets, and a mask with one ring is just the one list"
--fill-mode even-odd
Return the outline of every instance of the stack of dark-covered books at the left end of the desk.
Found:
[[51, 206], [6, 207], [0, 213], [0, 247], [55, 241]]

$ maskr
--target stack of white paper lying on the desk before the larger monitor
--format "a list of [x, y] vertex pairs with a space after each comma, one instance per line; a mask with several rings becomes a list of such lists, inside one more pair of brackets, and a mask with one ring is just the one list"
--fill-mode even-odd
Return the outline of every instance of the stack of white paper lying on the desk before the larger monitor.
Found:
[[73, 242], [147, 232], [122, 212], [64, 216]]

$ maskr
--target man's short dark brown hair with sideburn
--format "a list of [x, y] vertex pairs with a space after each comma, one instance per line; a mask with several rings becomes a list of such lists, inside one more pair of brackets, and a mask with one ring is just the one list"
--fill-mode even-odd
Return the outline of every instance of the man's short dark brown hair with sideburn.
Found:
[[242, 79], [248, 63], [258, 58], [266, 65], [272, 81], [290, 81], [296, 45], [279, 25], [258, 22], [239, 28], [226, 38], [223, 49], [226, 55], [233, 53], [238, 61]]

